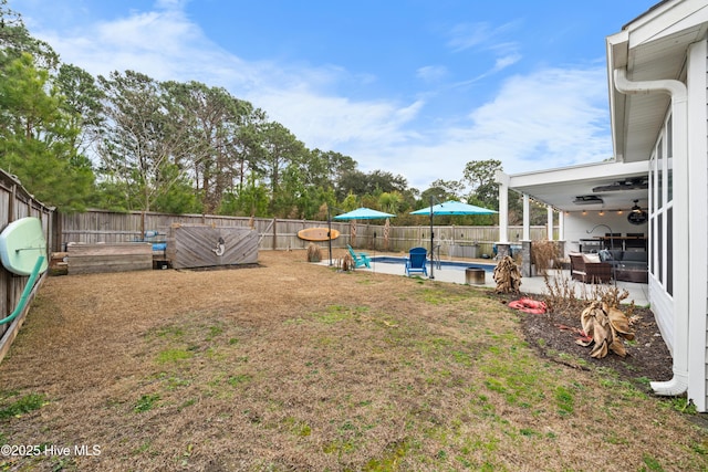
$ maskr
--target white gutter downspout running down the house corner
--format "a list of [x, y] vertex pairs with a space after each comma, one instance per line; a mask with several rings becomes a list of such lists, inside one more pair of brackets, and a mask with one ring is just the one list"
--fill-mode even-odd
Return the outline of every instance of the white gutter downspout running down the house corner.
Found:
[[[626, 69], [614, 70], [614, 82], [617, 92], [623, 94], [649, 94], [655, 92], [668, 93], [671, 97], [671, 116], [674, 134], [674, 180], [680, 185], [674, 186], [674, 207], [676, 212], [674, 221], [674, 248], [681, 250], [674, 252], [674, 268], [687, 269], [690, 266], [688, 237], [688, 214], [690, 214], [690, 200], [688, 189], [688, 93], [683, 82], [675, 80], [631, 82], [627, 78]], [[686, 183], [686, 185], [684, 185]], [[683, 228], [683, 231], [678, 229]], [[674, 277], [675, 281], [679, 279]], [[690, 290], [688, 283], [674, 284], [674, 377], [667, 381], [650, 382], [656, 395], [677, 396], [688, 390], [688, 318]]]

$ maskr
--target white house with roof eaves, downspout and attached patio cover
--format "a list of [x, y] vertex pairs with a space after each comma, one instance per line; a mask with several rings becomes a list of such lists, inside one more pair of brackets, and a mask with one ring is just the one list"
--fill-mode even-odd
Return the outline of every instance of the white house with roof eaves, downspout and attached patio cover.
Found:
[[[706, 0], [665, 0], [622, 27], [606, 39], [614, 160], [498, 176], [502, 227], [513, 189], [560, 213], [566, 251], [597, 227], [646, 234], [649, 302], [674, 359], [673, 378], [652, 388], [686, 392], [698, 411], [708, 410], [707, 33]], [[635, 206], [646, 222], [629, 222]]]

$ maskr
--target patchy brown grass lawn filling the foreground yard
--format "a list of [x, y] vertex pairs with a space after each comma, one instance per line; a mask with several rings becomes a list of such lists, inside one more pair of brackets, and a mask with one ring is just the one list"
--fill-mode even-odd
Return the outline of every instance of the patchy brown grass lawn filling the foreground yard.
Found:
[[48, 279], [0, 365], [2, 470], [708, 469], [695, 415], [539, 357], [488, 290], [259, 261]]

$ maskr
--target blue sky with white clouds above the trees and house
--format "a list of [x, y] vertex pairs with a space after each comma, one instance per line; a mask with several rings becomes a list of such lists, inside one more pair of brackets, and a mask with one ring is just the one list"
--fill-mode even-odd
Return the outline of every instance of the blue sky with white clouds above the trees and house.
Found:
[[613, 156], [605, 38], [658, 0], [9, 0], [94, 76], [198, 81], [427, 189]]

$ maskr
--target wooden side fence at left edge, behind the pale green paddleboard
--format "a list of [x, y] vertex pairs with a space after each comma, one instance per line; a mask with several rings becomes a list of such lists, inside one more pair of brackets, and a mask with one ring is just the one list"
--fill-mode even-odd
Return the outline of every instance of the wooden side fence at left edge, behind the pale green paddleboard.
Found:
[[[54, 241], [54, 211], [35, 200], [13, 176], [0, 170], [0, 230], [12, 221], [24, 217], [35, 217], [42, 222], [44, 238], [51, 248]], [[0, 265], [0, 317], [4, 318], [12, 313], [22, 295], [29, 277], [14, 275]], [[20, 326], [24, 322], [24, 315], [34, 297], [37, 290], [44, 281], [44, 273], [39, 277], [34, 290], [30, 293], [23, 313], [20, 313], [11, 323], [0, 325], [0, 360], [4, 357], [17, 336]]]

